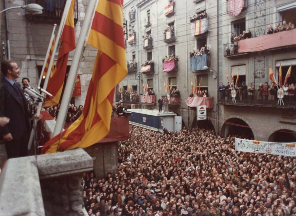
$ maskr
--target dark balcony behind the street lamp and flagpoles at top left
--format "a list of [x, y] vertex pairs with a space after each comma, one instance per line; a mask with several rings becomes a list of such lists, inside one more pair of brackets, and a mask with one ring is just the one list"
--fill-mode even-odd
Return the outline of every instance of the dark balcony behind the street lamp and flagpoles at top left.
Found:
[[[61, 17], [63, 15], [63, 8], [60, 15], [56, 15], [54, 10], [54, 1], [48, 1], [50, 3], [45, 3], [44, 0], [26, 0], [26, 4], [36, 3], [43, 7], [42, 14], [26, 14], [26, 19], [35, 23], [60, 23]], [[63, 6], [64, 7], [64, 6]], [[78, 0], [75, 0], [74, 8], [74, 23], [78, 21]]]

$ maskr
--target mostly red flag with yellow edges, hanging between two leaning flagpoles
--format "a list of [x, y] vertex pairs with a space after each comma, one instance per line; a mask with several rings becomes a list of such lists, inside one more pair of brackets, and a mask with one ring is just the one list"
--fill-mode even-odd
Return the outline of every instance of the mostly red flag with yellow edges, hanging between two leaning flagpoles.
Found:
[[51, 93], [54, 98], [49, 98], [46, 96], [45, 106], [53, 106], [58, 104], [62, 95], [69, 52], [74, 50], [76, 47], [74, 32], [74, 8], [75, 0], [72, 0], [60, 38], [62, 44], [59, 50], [57, 63], [46, 88], [46, 91]]

